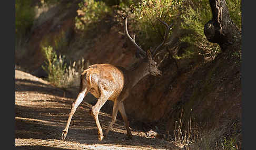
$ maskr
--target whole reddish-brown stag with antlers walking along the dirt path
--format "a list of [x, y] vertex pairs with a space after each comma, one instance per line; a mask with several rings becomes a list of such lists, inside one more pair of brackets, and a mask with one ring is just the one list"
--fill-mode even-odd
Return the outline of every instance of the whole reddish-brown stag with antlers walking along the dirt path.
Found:
[[[158, 20], [166, 27], [165, 36], [163, 42], [151, 54], [150, 50], [144, 51], [136, 44], [135, 36], [133, 39], [131, 38], [127, 30], [127, 16], [125, 17], [125, 33], [137, 47], [140, 55], [142, 56], [139, 65], [132, 70], [126, 70], [122, 67], [116, 67], [105, 63], [92, 65], [89, 66], [88, 69], [84, 70], [83, 73], [81, 73], [80, 91], [75, 102], [72, 104], [72, 109], [68, 117], [66, 127], [62, 132], [62, 140], [65, 140], [66, 138], [68, 126], [70, 126], [72, 116], [74, 115], [77, 106], [83, 101], [88, 92], [91, 92], [94, 97], [98, 99], [97, 103], [90, 110], [90, 114], [94, 117], [96, 122], [99, 140], [102, 141], [103, 137], [106, 137], [109, 133], [111, 126], [116, 121], [117, 111], [121, 113], [125, 122], [127, 130], [126, 135], [129, 138], [132, 137], [132, 133], [129, 128], [129, 121], [124, 110], [123, 101], [129, 96], [134, 85], [136, 85], [136, 83], [139, 82], [143, 77], [147, 76], [147, 74], [152, 74], [153, 76], [161, 76], [162, 74], [162, 72], [157, 69], [157, 63], [152, 59], [152, 56], [155, 55], [157, 50], [160, 50], [160, 48], [164, 46], [171, 26], [168, 26], [160, 19]], [[103, 136], [98, 115], [100, 109], [107, 100], [114, 101], [114, 105], [112, 121], [109, 127], [107, 127], [105, 135]]]

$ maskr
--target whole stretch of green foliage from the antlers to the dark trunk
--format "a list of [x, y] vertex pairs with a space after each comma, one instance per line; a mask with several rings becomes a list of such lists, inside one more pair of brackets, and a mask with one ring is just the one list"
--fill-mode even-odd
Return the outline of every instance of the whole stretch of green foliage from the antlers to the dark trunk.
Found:
[[[212, 44], [204, 36], [204, 24], [211, 19], [211, 8], [208, 1], [146, 1], [130, 2], [132, 12], [135, 14], [136, 24], [131, 25], [139, 33], [140, 44], [149, 48], [159, 44], [163, 39], [165, 27], [155, 17], [164, 22], [174, 24], [182, 20], [179, 30], [179, 44], [187, 43], [189, 47], [183, 48], [184, 53], [175, 58], [191, 58], [194, 55], [208, 55], [212, 59], [220, 51], [217, 44]], [[170, 30], [169, 34], [172, 34]], [[178, 46], [179, 47], [179, 46]]]

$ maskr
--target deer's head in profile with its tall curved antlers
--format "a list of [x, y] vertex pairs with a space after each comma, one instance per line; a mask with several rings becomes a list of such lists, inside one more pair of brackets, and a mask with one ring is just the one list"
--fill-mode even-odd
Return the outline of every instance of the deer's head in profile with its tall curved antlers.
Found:
[[159, 18], [156, 18], [157, 20], [159, 20], [162, 24], [164, 24], [165, 26], [165, 35], [164, 35], [164, 38], [163, 38], [163, 41], [162, 43], [157, 46], [152, 52], [151, 50], [147, 50], [147, 51], [144, 51], [139, 45], [136, 44], [135, 42], [135, 35], [133, 36], [133, 39], [131, 38], [131, 36], [129, 35], [128, 33], [128, 30], [127, 30], [127, 18], [128, 18], [128, 15], [126, 17], [124, 17], [125, 19], [125, 33], [127, 35], [127, 37], [133, 42], [133, 44], [137, 47], [137, 53], [139, 53], [139, 56], [143, 59], [142, 63], [146, 63], [145, 64], [145, 67], [146, 67], [146, 70], [153, 76], [161, 76], [162, 75], [162, 71], [160, 71], [157, 67], [159, 67], [157, 65], [157, 63], [153, 60], [153, 57], [155, 57], [155, 54], [157, 51], [160, 51], [161, 48], [163, 46], [165, 46], [165, 42], [167, 40], [167, 37], [168, 37], [168, 33], [169, 33], [169, 30], [171, 28], [172, 25], [168, 25], [166, 24], [165, 22], [163, 22], [162, 20], [160, 20]]

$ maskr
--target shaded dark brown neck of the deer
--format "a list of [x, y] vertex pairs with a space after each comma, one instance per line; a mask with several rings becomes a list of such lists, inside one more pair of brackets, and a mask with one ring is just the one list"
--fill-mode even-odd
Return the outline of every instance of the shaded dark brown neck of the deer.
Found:
[[147, 63], [139, 63], [139, 65], [129, 71], [128, 77], [130, 78], [131, 86], [134, 87], [147, 74], [149, 74]]

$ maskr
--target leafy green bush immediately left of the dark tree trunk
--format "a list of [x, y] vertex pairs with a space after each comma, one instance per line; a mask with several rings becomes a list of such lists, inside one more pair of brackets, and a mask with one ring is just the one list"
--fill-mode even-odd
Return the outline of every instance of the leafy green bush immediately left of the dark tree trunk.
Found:
[[[181, 38], [181, 41], [188, 42], [191, 47], [185, 49], [184, 57], [192, 55], [203, 55], [214, 59], [220, 52], [218, 44], [209, 42], [203, 32], [204, 25], [212, 19], [211, 7], [208, 1], [193, 0], [187, 1], [186, 7], [182, 9], [182, 28], [190, 30], [190, 34]], [[187, 54], [190, 55], [187, 55]]]

